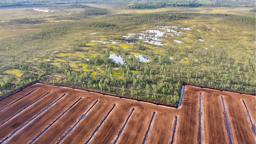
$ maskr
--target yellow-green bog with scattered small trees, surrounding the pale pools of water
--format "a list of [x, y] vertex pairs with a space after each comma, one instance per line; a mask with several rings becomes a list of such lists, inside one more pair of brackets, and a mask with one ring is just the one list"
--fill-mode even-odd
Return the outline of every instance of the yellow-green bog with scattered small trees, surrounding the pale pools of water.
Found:
[[[87, 5], [0, 10], [0, 95], [35, 80], [171, 105], [177, 104], [184, 82], [255, 92], [252, 7]], [[163, 45], [125, 39], [152, 30], [164, 33], [153, 37]], [[110, 54], [125, 63], [115, 63]]]

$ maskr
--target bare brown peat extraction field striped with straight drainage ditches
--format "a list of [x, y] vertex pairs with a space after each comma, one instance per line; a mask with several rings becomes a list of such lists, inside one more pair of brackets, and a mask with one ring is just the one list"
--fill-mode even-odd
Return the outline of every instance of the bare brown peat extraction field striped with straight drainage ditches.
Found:
[[255, 143], [255, 101], [186, 85], [173, 108], [36, 83], [0, 101], [0, 143]]

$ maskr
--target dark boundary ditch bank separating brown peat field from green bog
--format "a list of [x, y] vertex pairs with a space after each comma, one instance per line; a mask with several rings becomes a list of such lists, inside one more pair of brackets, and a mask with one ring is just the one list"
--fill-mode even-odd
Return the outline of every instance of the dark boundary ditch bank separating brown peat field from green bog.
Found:
[[157, 105], [157, 106], [166, 106], [166, 107], [172, 107], [172, 108], [179, 108], [181, 106], [181, 103], [182, 103], [182, 98], [183, 98], [183, 93], [184, 93], [184, 89], [185, 89], [185, 86], [186, 85], [190, 85], [190, 86], [195, 86], [195, 87], [200, 87], [200, 88], [203, 88], [203, 89], [211, 89], [211, 90], [218, 90], [218, 91], [227, 91], [227, 92], [235, 92], [235, 93], [239, 93], [239, 94], [248, 94], [248, 95], [253, 95], [255, 96], [256, 94], [255, 93], [246, 93], [246, 92], [237, 92], [237, 91], [232, 91], [232, 90], [227, 90], [227, 89], [214, 89], [214, 88], [211, 88], [211, 87], [207, 87], [207, 86], [202, 86], [202, 85], [195, 85], [195, 84], [189, 84], [189, 83], [183, 83], [182, 84], [182, 87], [181, 87], [181, 93], [180, 93], [180, 98], [179, 98], [179, 101], [178, 101], [178, 105], [175, 106], [175, 105], [171, 105], [170, 103], [167, 103], [167, 102], [159, 102], [159, 101], [153, 101], [153, 100], [138, 100], [138, 99], [134, 99], [134, 98], [129, 98], [129, 97], [125, 97], [125, 96], [122, 96], [122, 95], [118, 95], [118, 94], [113, 94], [113, 93], [108, 93], [108, 92], [103, 92], [103, 91], [100, 91], [100, 90], [95, 90], [95, 89], [89, 89], [89, 88], [84, 88], [84, 87], [80, 87], [80, 86], [75, 86], [75, 85], [67, 85], [67, 84], [53, 84], [53, 83], [45, 83], [45, 82], [39, 82], [39, 81], [35, 81], [35, 82], [31, 82], [25, 86], [22, 86], [20, 89], [18, 90], [14, 90], [13, 92], [10, 92], [10, 93], [7, 93], [5, 95], [2, 96], [2, 98], [0, 98], [0, 101], [7, 98], [7, 97], [10, 97], [11, 95], [17, 93], [17, 92], [20, 92], [24, 89], [26, 89], [27, 87], [29, 86], [32, 86], [36, 83], [41, 83], [41, 84], [46, 84], [46, 85], [53, 85], [53, 86], [63, 86], [63, 87], [69, 87], [71, 89], [77, 89], [77, 90], [83, 90], [83, 91], [88, 91], [88, 92], [95, 92], [95, 93], [99, 93], [99, 94], [103, 94], [103, 95], [107, 95], [107, 96], [112, 96], [112, 97], [118, 97], [118, 98], [121, 98], [121, 99], [130, 99], [130, 100], [135, 100], [135, 101], [139, 101], [139, 102], [147, 102], [147, 103], [151, 103], [153, 105]]

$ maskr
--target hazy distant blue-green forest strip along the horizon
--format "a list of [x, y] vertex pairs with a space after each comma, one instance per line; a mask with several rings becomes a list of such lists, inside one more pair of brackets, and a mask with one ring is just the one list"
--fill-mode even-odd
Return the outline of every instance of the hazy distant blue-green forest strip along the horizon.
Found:
[[147, 0], [147, 1], [138, 1], [138, 0], [23, 0], [22, 2], [16, 0], [4, 0], [0, 1], [0, 8], [8, 7], [38, 7], [38, 6], [66, 6], [73, 5], [75, 8], [84, 8], [83, 4], [87, 3], [110, 3], [110, 4], [119, 4], [128, 9], [157, 9], [161, 7], [224, 7], [224, 6], [255, 6], [255, 1], [253, 0], [221, 0], [221, 1], [185, 1], [185, 0]]

